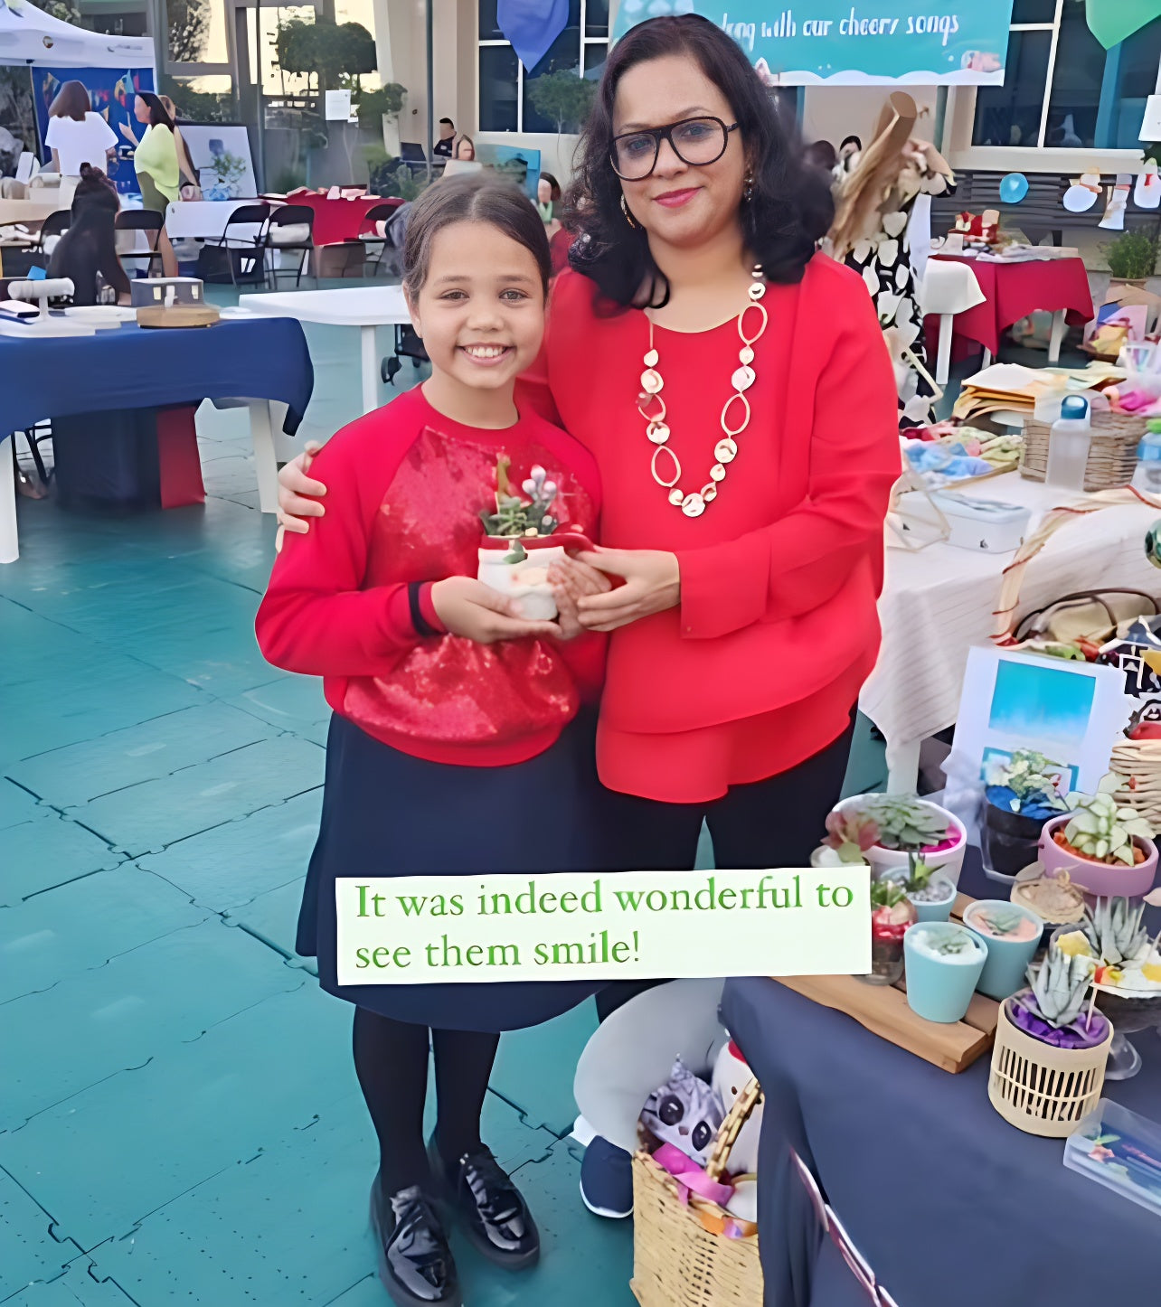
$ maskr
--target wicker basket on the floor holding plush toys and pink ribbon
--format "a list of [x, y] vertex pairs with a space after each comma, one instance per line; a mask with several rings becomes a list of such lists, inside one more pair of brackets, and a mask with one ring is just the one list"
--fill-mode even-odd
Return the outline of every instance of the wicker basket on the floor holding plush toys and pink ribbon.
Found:
[[[730, 1150], [754, 1106], [758, 1082], [733, 1100], [706, 1174], [720, 1180]], [[682, 1202], [677, 1182], [648, 1153], [633, 1158], [633, 1290], [641, 1307], [757, 1307], [762, 1300], [758, 1236], [719, 1233], [732, 1219], [697, 1193]]]

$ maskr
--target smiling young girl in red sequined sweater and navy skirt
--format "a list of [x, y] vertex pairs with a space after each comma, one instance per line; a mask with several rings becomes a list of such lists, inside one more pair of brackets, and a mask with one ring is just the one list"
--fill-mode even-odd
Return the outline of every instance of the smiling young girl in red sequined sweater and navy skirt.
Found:
[[[404, 289], [431, 379], [353, 422], [319, 454], [326, 521], [288, 536], [258, 613], [265, 656], [322, 676], [335, 710], [322, 830], [297, 948], [356, 1005], [354, 1064], [379, 1140], [371, 1191], [379, 1273], [397, 1303], [460, 1302], [431, 1199], [447, 1197], [492, 1260], [524, 1266], [539, 1235], [480, 1140], [498, 1031], [580, 1002], [596, 984], [340, 987], [337, 876], [603, 869], [613, 825], [582, 708], [601, 637], [514, 616], [475, 579], [496, 469], [558, 488], [567, 527], [595, 529], [594, 461], [513, 400], [540, 348], [549, 276], [536, 209], [481, 178], [431, 187], [412, 210]], [[429, 1043], [438, 1120], [422, 1141]]]

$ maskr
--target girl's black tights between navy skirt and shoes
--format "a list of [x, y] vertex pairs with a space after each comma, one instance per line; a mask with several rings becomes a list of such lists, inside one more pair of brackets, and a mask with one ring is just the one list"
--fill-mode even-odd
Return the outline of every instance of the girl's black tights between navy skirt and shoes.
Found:
[[428, 1183], [424, 1100], [428, 1050], [435, 1052], [435, 1146], [451, 1168], [480, 1148], [480, 1112], [499, 1035], [429, 1030], [367, 1008], [354, 1009], [354, 1070], [379, 1138], [383, 1192]]

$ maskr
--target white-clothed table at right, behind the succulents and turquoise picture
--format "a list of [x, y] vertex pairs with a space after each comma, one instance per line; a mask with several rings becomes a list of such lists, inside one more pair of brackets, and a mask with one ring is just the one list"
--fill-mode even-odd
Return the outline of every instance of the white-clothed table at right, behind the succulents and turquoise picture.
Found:
[[[1017, 472], [961, 489], [1030, 507], [1029, 529], [1050, 508], [1077, 498], [1025, 481]], [[1072, 591], [1128, 587], [1161, 593], [1161, 574], [1144, 553], [1145, 531], [1157, 516], [1156, 508], [1132, 505], [1069, 521], [1029, 562], [1018, 612]], [[943, 542], [914, 553], [888, 546], [879, 601], [883, 647], [859, 707], [886, 738], [893, 791], [915, 788], [920, 741], [954, 723], [968, 650], [990, 643], [1000, 574], [1012, 557], [974, 554]]]

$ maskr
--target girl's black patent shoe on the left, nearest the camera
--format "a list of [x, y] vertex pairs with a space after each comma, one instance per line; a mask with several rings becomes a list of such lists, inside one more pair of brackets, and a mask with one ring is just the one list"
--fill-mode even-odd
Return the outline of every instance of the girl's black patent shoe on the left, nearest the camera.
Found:
[[377, 1175], [371, 1185], [371, 1229], [379, 1278], [399, 1307], [462, 1307], [447, 1235], [417, 1184], [388, 1196]]

